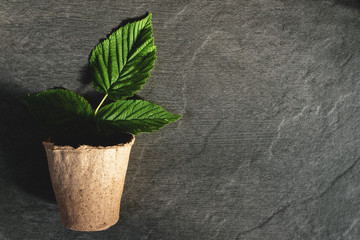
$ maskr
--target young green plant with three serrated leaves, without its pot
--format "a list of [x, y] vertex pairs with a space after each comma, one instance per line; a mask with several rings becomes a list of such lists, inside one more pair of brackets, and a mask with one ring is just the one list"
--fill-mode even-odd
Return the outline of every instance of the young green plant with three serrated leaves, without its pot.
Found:
[[[92, 50], [92, 85], [104, 94], [94, 109], [82, 96], [66, 89], [50, 89], [24, 98], [41, 125], [55, 135], [113, 136], [152, 132], [180, 115], [144, 100], [126, 100], [141, 90], [154, 67], [156, 47], [151, 14], [128, 23]], [[111, 103], [104, 105], [105, 101]]]

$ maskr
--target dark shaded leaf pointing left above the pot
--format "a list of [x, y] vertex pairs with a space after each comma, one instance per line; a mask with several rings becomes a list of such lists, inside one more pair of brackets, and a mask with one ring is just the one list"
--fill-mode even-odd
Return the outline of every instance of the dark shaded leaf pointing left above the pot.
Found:
[[70, 90], [46, 90], [23, 100], [41, 125], [55, 131], [74, 130], [80, 134], [93, 115], [90, 104]]

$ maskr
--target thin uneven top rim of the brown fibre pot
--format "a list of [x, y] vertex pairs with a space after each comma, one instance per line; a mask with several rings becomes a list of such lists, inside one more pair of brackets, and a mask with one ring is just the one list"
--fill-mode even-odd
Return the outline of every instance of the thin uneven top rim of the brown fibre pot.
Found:
[[42, 144], [45, 148], [49, 148], [51, 150], [93, 150], [93, 149], [116, 149], [119, 147], [125, 147], [125, 146], [132, 146], [135, 142], [135, 136], [131, 134], [132, 138], [129, 142], [126, 143], [119, 143], [116, 145], [111, 146], [92, 146], [87, 144], [79, 145], [78, 147], [74, 148], [70, 145], [56, 145], [51, 139], [48, 139], [46, 141], [43, 141]]

